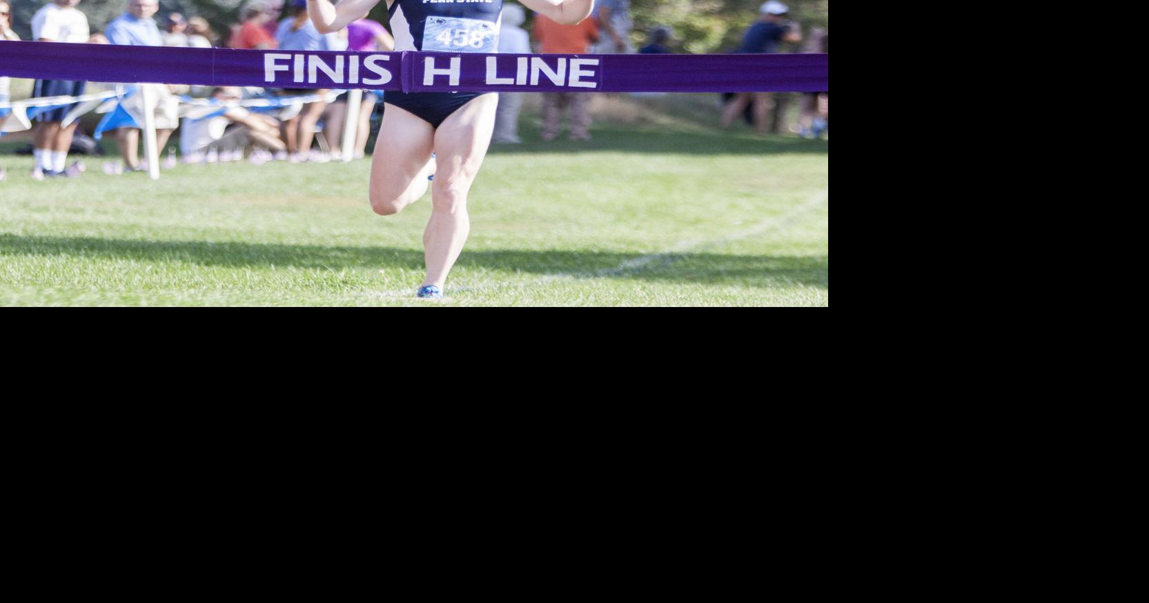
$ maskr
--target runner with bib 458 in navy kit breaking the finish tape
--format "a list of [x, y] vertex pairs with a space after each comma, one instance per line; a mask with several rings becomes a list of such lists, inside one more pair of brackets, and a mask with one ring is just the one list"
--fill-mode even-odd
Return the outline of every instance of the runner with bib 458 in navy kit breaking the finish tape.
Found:
[[[558, 23], [573, 25], [591, 15], [594, 0], [520, 0]], [[379, 0], [308, 0], [321, 33], [339, 31]], [[502, 0], [387, 0], [395, 52], [494, 53], [499, 47]], [[431, 18], [434, 17], [434, 18]], [[481, 39], [458, 47], [455, 39]], [[483, 165], [494, 131], [499, 95], [475, 92], [387, 92], [383, 126], [371, 163], [371, 208], [399, 214], [431, 184], [431, 222], [423, 233], [427, 276], [419, 297], [441, 299], [447, 273], [458, 260], [471, 221], [466, 194]], [[437, 155], [437, 165], [431, 154]]]

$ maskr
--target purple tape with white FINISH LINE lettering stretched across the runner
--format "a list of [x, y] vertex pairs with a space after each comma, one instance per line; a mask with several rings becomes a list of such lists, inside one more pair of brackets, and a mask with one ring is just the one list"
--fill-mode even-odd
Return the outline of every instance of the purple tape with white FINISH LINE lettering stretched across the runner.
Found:
[[299, 53], [0, 41], [0, 76], [403, 92], [828, 92], [828, 54]]

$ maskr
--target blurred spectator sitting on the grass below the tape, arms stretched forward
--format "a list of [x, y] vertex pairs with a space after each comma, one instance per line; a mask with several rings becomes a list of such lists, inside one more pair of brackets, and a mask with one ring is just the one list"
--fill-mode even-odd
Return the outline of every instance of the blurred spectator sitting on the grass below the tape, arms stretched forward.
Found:
[[225, 137], [231, 139], [228, 144], [233, 149], [252, 146], [269, 154], [286, 149], [279, 140], [276, 119], [240, 107], [241, 96], [242, 91], [237, 87], [217, 87], [211, 91], [211, 100], [217, 105], [188, 111], [179, 130], [179, 148], [185, 163], [202, 162], [209, 150], [228, 150], [219, 148]]

